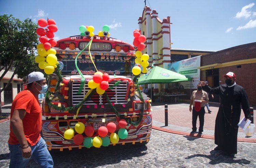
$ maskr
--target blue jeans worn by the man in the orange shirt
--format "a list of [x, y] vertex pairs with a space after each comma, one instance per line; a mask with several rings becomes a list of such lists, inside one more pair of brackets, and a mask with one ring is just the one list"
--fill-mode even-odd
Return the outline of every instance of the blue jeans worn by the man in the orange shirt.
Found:
[[[39, 141], [34, 146], [30, 146], [32, 151], [32, 158], [34, 159], [40, 167], [48, 168], [53, 167], [53, 160], [52, 156], [49, 153], [45, 141], [41, 137]], [[21, 145], [10, 145], [10, 168], [17, 168], [17, 167], [26, 167], [30, 158], [23, 158], [21, 152]]]

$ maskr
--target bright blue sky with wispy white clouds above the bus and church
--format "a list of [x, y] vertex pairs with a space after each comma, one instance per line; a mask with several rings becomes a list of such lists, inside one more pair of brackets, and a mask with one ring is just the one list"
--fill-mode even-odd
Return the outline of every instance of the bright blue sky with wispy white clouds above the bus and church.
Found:
[[[159, 18], [171, 17], [175, 49], [219, 51], [256, 41], [256, 0], [147, 0]], [[0, 0], [0, 15], [24, 20], [54, 19], [55, 39], [79, 35], [92, 25], [97, 34], [108, 24], [110, 36], [132, 44], [144, 0]]]

